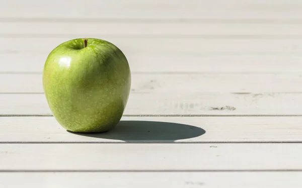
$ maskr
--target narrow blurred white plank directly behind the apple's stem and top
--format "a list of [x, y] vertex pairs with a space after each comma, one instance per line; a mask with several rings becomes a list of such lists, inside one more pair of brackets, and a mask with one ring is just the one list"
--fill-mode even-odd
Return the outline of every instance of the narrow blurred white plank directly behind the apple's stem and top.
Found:
[[[118, 37], [96, 35], [118, 46], [125, 54], [187, 54], [187, 55], [271, 55], [302, 52], [302, 39], [277, 38], [171, 38]], [[269, 36], [268, 36], [269, 37]], [[0, 38], [0, 54], [43, 54], [57, 45], [71, 40], [66, 38]], [[18, 45], [16, 45], [18, 44]]]

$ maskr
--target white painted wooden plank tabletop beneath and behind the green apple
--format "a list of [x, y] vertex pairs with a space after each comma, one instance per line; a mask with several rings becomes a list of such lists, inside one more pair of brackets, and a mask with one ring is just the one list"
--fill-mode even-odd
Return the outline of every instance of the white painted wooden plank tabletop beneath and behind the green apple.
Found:
[[[0, 187], [302, 187], [301, 23], [300, 0], [3, 2]], [[80, 37], [129, 60], [108, 133], [66, 132], [44, 97]]]

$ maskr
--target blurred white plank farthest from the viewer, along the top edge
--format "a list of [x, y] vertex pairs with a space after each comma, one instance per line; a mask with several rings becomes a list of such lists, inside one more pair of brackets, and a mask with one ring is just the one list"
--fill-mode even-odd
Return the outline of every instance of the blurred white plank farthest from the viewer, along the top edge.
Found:
[[299, 0], [277, 1], [22, 1], [0, 8], [3, 18], [301, 19]]

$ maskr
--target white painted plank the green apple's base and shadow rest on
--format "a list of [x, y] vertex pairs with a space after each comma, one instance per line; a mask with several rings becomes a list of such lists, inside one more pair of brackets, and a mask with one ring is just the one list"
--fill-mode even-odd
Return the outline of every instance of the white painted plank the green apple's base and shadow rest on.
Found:
[[122, 117], [110, 132], [74, 134], [54, 117], [0, 117], [0, 143], [301, 143], [301, 122], [302, 117]]

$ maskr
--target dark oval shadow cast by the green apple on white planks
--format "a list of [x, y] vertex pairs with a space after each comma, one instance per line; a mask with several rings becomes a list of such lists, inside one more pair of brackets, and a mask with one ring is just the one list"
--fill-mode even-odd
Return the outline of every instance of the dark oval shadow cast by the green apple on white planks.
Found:
[[170, 122], [120, 121], [114, 129], [104, 133], [70, 133], [100, 139], [122, 140], [126, 143], [171, 143], [201, 136], [205, 134], [205, 130]]

